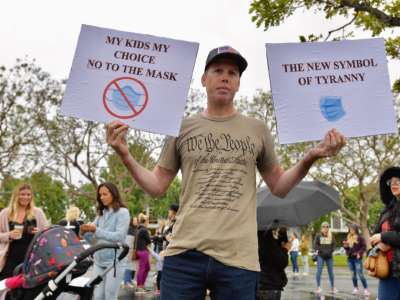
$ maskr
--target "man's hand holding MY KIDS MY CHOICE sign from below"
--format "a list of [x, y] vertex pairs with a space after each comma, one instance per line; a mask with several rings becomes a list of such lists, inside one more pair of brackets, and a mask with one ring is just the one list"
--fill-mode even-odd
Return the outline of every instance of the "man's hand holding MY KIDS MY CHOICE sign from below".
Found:
[[128, 144], [126, 143], [126, 133], [128, 125], [119, 121], [113, 121], [106, 126], [107, 128], [107, 143], [115, 150], [120, 157], [129, 155]]

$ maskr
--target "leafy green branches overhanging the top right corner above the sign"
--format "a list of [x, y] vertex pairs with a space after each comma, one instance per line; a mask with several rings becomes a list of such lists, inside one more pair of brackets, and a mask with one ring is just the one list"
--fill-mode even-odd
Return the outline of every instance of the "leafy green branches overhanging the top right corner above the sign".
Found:
[[[346, 38], [354, 36], [353, 30], [359, 28], [371, 32], [372, 36], [388, 33], [390, 37], [385, 39], [386, 52], [393, 59], [400, 58], [400, 36], [395, 35], [395, 29], [400, 27], [398, 0], [253, 0], [249, 12], [257, 27], [268, 30], [301, 9], [323, 13], [326, 19], [336, 18], [343, 23], [326, 34], [302, 35], [301, 41]], [[395, 81], [393, 89], [400, 92], [399, 79]]]

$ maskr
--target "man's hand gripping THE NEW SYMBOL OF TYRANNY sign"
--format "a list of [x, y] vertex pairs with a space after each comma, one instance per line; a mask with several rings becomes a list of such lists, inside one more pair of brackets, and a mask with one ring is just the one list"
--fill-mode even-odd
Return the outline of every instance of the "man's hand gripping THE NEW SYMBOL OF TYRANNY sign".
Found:
[[315, 158], [335, 156], [345, 144], [346, 138], [336, 129], [331, 129], [325, 134], [324, 140], [311, 150], [311, 154]]

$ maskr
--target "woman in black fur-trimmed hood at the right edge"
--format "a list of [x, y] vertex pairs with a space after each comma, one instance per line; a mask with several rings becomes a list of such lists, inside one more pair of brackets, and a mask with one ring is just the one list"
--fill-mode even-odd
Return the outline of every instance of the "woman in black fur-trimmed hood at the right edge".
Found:
[[370, 242], [386, 252], [389, 277], [379, 279], [379, 299], [400, 299], [400, 168], [386, 169], [379, 180], [381, 200], [385, 204]]

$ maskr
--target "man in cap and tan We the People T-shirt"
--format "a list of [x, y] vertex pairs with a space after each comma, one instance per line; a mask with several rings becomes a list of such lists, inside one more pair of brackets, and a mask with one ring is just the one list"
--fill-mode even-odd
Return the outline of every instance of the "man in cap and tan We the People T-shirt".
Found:
[[210, 51], [202, 76], [207, 108], [168, 137], [153, 170], [139, 165], [125, 141], [128, 126], [115, 121], [107, 141], [134, 180], [151, 196], [165, 193], [182, 172], [180, 207], [166, 251], [161, 298], [254, 299], [260, 271], [256, 224], [256, 168], [270, 190], [284, 197], [319, 158], [345, 144], [335, 129], [284, 171], [264, 122], [236, 111], [234, 96], [246, 60], [225, 46]]

